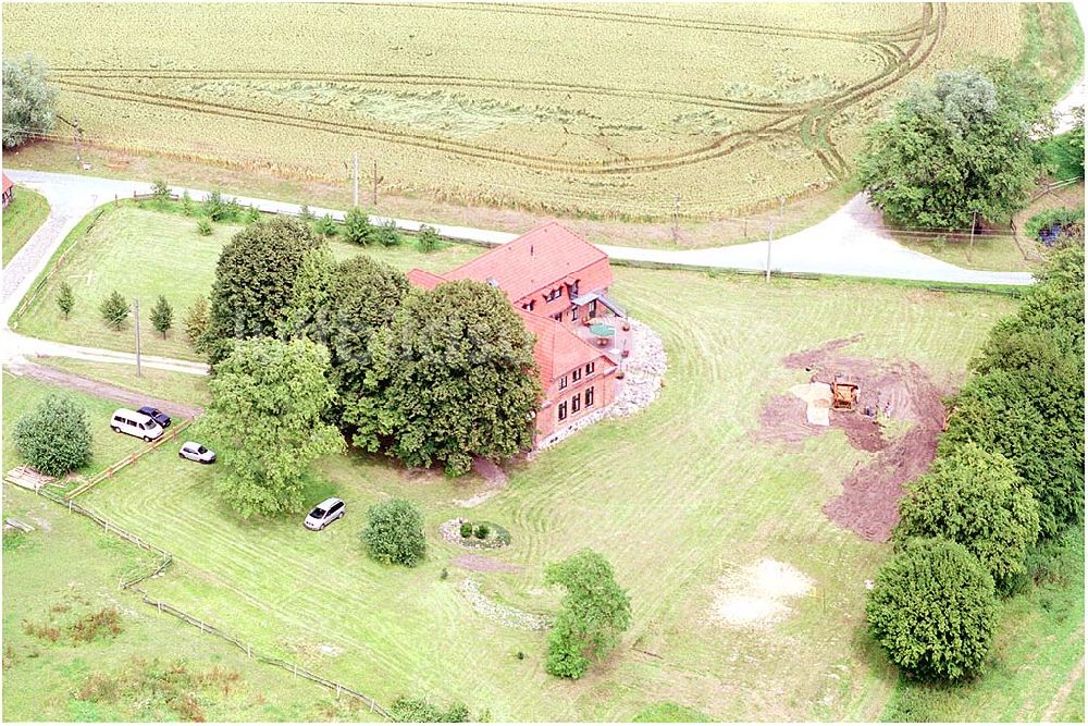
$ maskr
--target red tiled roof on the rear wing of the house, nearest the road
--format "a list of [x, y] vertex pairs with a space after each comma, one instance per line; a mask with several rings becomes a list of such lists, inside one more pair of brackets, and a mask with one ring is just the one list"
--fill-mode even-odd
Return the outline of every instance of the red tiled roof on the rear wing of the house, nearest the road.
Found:
[[527, 232], [443, 276], [494, 280], [515, 303], [568, 279], [580, 279], [580, 287], [586, 292], [613, 282], [608, 256], [558, 222]]

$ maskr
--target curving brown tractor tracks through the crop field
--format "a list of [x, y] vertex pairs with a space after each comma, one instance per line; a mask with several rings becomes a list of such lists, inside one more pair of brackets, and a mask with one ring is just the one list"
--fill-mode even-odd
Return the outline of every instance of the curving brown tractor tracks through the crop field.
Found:
[[[881, 61], [882, 69], [875, 76], [846, 86], [831, 96], [812, 102], [799, 103], [756, 101], [683, 91], [623, 88], [606, 85], [443, 74], [325, 71], [285, 72], [245, 69], [163, 70], [104, 66], [57, 67], [54, 69], [54, 73], [59, 85], [71, 93], [106, 100], [158, 106], [188, 113], [239, 119], [255, 123], [304, 128], [339, 136], [373, 138], [430, 151], [452, 153], [485, 161], [497, 161], [545, 172], [614, 175], [668, 171], [714, 161], [756, 143], [795, 135], [799, 137], [801, 144], [816, 156], [832, 179], [841, 180], [849, 173], [849, 164], [838, 151], [831, 138], [830, 130], [832, 124], [849, 108], [901, 81], [912, 70], [924, 62], [943, 35], [947, 15], [947, 8], [943, 3], [926, 3], [923, 7], [922, 16], [904, 27], [878, 33], [839, 33], [833, 30], [808, 30], [805, 28], [776, 27], [722, 21], [669, 19], [647, 13], [626, 13], [581, 8], [547, 8], [543, 5], [507, 7], [487, 3], [418, 7], [443, 11], [469, 9], [477, 12], [536, 14], [609, 23], [651, 25], [665, 28], [703, 29], [714, 33], [756, 34], [759, 36], [850, 42], [876, 54]], [[900, 47], [901, 44], [910, 44], [910, 46], [904, 50]], [[729, 109], [777, 118], [753, 128], [722, 134], [700, 146], [669, 153], [622, 155], [619, 158], [613, 159], [560, 159], [555, 156], [527, 153], [493, 145], [454, 139], [437, 134], [406, 131], [378, 123], [320, 119], [307, 114], [286, 113], [252, 108], [245, 104], [236, 106], [184, 96], [132, 90], [109, 85], [111, 81], [133, 78], [150, 81], [313, 81], [344, 84], [399, 84], [409, 87], [433, 85], [495, 90], [530, 90], [545, 94], [582, 94], [657, 102], [690, 103], [703, 108]], [[86, 140], [106, 146], [110, 144], [108, 139], [87, 138]]]

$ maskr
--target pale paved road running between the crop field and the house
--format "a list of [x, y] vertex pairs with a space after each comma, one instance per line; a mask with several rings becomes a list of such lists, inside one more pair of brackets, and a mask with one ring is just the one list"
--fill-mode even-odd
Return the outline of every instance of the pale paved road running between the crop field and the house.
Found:
[[[15, 182], [44, 194], [51, 205], [53, 198], [58, 198], [62, 208], [74, 207], [78, 204], [78, 199], [84, 199], [81, 208], [86, 209], [94, 206], [94, 202], [87, 201], [91, 196], [98, 199], [98, 204], [101, 204], [107, 199], [112, 199], [114, 195], [131, 196], [133, 192], [146, 193], [149, 189], [149, 185], [143, 182], [121, 182], [72, 174], [52, 174], [16, 169], [10, 170], [8, 175]], [[185, 189], [175, 187], [174, 190], [181, 194]], [[201, 189], [188, 189], [188, 192], [194, 199], [200, 199], [207, 194]], [[238, 197], [238, 201], [268, 212], [297, 214], [299, 210], [298, 205], [271, 199]], [[65, 205], [66, 207], [64, 207]], [[343, 211], [333, 209], [311, 208], [311, 211], [316, 214], [329, 213], [334, 219], [342, 219], [344, 216]], [[417, 220], [384, 217], [371, 219], [379, 224], [392, 219], [398, 227], [409, 232], [418, 231], [422, 224]], [[433, 226], [442, 236], [449, 239], [487, 245], [503, 244], [517, 236], [493, 230], [445, 224]], [[35, 235], [32, 243], [36, 242], [37, 237], [38, 235]], [[33, 247], [28, 243], [24, 250], [28, 255], [35, 256], [34, 260], [37, 261], [41, 255], [39, 247], [47, 248], [48, 241], [42, 239], [41, 245]], [[601, 249], [615, 260], [646, 261], [666, 266], [681, 264], [752, 271], [765, 269], [767, 261], [767, 244], [764, 242], [691, 250], [642, 249], [611, 245], [601, 245]], [[21, 274], [24, 267], [33, 267], [29, 263], [23, 264], [18, 259], [21, 255], [23, 251], [20, 251], [20, 255], [12, 260], [11, 267], [16, 275]], [[37, 269], [40, 269], [40, 266]], [[844, 207], [819, 224], [776, 241], [771, 250], [771, 269], [783, 272], [984, 285], [1029, 285], [1033, 282], [1031, 275], [1026, 272], [966, 270], [902, 247], [882, 230], [879, 214], [869, 207], [861, 195], [851, 199]], [[8, 305], [8, 290], [14, 286], [14, 282], [9, 282], [5, 270], [5, 306]]]

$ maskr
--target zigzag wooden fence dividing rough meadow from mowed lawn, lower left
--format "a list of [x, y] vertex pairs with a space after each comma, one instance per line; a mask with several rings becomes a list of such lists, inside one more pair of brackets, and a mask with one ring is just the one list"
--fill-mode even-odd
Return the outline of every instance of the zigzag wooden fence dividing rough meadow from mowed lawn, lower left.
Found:
[[375, 701], [370, 696], [367, 696], [361, 691], [357, 691], [354, 688], [349, 688], [330, 678], [325, 678], [324, 676], [320, 676], [316, 673], [312, 673], [311, 670], [308, 670], [299, 666], [297, 663], [290, 663], [288, 661], [283, 661], [277, 657], [263, 655], [259, 651], [254, 649], [254, 647], [250, 645], [249, 643], [235, 638], [234, 636], [225, 632], [224, 630], [215, 627], [214, 625], [206, 620], [202, 620], [198, 617], [195, 617], [193, 615], [189, 615], [188, 613], [177, 607], [174, 607], [170, 603], [163, 602], [162, 600], [153, 600], [149, 598], [147, 592], [143, 588], [140, 588], [139, 585], [145, 580], [156, 577], [157, 575], [165, 571], [165, 569], [174, 562], [174, 556], [171, 553], [166, 552], [162, 547], [156, 546], [154, 544], [148, 542], [147, 540], [140, 539], [136, 534], [132, 534], [131, 532], [125, 531], [124, 529], [118, 527], [116, 525], [110, 522], [109, 520], [98, 516], [87, 507], [76, 504], [71, 499], [59, 496], [53, 492], [48, 491], [45, 488], [38, 490], [38, 494], [49, 500], [50, 502], [54, 502], [65, 507], [69, 512], [87, 517], [91, 521], [102, 527], [108, 533], [115, 534], [121, 539], [131, 542], [143, 550], [154, 552], [156, 554], [160, 555], [159, 562], [153, 568], [147, 570], [146, 573], [137, 575], [136, 577], [133, 577], [128, 580], [122, 580], [121, 582], [119, 582], [119, 588], [121, 590], [131, 590], [133, 592], [138, 593], [140, 595], [140, 600], [146, 605], [154, 607], [160, 613], [166, 613], [168, 615], [172, 615], [177, 619], [183, 620], [184, 623], [188, 623], [189, 625], [199, 628], [201, 632], [206, 632], [208, 635], [215, 636], [217, 638], [225, 640], [226, 642], [235, 645], [236, 648], [245, 652], [245, 654], [248, 657], [256, 659], [261, 663], [265, 663], [268, 665], [272, 665], [277, 668], [283, 668], [284, 670], [289, 672], [292, 675], [298, 678], [306, 678], [307, 680], [311, 680], [318, 684], [319, 686], [323, 686], [329, 690], [335, 692], [336, 698], [339, 698], [342, 694], [344, 694], [358, 699], [359, 701], [364, 703], [372, 713], [376, 713], [381, 715], [383, 718], [388, 718], [391, 721], [393, 719], [393, 715], [384, 707], [382, 707], [378, 703], [378, 701]]

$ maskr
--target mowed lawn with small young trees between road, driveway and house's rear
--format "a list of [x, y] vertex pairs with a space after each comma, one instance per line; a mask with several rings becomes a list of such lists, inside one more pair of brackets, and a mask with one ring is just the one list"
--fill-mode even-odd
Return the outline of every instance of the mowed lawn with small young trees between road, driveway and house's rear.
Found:
[[[114, 290], [129, 304], [139, 299], [140, 346], [145, 355], [172, 358], [201, 357], [185, 335], [185, 311], [200, 295], [209, 295], [215, 279], [215, 262], [223, 245], [242, 230], [217, 224], [210, 236], [196, 232], [197, 221], [178, 213], [139, 208], [132, 202], [107, 208], [98, 223], [77, 239], [61, 267], [17, 321], [17, 331], [33, 337], [62, 343], [135, 349], [129, 318], [120, 332], [110, 328], [99, 306]], [[368, 254], [395, 267], [425, 267], [444, 271], [480, 254], [479, 247], [450, 245], [431, 255], [405, 247], [360, 247], [335, 237], [330, 243], [338, 259]], [[60, 285], [67, 282], [75, 308], [67, 320], [57, 307]], [[151, 327], [151, 308], [164, 295], [174, 308], [174, 327], [165, 339]]]

